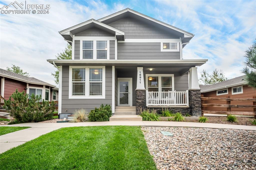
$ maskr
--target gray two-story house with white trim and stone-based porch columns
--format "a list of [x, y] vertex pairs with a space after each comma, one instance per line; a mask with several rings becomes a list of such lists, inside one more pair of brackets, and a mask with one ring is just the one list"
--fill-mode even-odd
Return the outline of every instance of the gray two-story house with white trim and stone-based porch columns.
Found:
[[72, 45], [71, 60], [47, 60], [60, 66], [61, 118], [101, 104], [110, 104], [113, 114], [167, 106], [201, 115], [196, 66], [207, 59], [182, 55], [194, 34], [129, 8], [59, 33]]

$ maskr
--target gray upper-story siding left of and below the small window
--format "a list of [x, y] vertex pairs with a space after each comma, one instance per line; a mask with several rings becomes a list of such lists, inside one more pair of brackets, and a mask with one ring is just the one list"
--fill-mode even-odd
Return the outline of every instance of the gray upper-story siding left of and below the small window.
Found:
[[117, 59], [180, 59], [180, 52], [161, 52], [160, 42], [124, 42], [117, 48]]

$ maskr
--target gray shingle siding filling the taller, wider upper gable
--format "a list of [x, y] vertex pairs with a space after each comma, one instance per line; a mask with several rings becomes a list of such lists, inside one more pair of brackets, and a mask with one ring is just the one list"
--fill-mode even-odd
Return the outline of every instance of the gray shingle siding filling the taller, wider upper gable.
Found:
[[122, 18], [108, 25], [125, 32], [127, 39], [179, 39], [175, 35], [134, 18]]

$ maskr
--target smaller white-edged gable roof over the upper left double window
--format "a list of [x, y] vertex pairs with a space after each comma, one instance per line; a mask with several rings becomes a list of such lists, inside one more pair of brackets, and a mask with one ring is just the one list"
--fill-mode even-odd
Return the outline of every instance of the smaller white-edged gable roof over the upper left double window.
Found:
[[[106, 25], [102, 22], [99, 22], [99, 21], [95, 20], [95, 19], [90, 19], [88, 21], [82, 22], [82, 23], [77, 24], [73, 27], [70, 27], [70, 28], [67, 28], [65, 30], [59, 31], [59, 33], [62, 35], [62, 37], [65, 40], [72, 41], [74, 34], [77, 34], [77, 33], [81, 32], [83, 30], [86, 30], [86, 29], [89, 29], [89, 28], [92, 28], [92, 27], [97, 27], [97, 28], [103, 29], [105, 31], [108, 31], [108, 32], [110, 32], [114, 35], [122, 35], [124, 37], [124, 32], [123, 31], [120, 31], [116, 28], [108, 26], [108, 25]], [[122, 39], [122, 40], [124, 40], [124, 39]]]

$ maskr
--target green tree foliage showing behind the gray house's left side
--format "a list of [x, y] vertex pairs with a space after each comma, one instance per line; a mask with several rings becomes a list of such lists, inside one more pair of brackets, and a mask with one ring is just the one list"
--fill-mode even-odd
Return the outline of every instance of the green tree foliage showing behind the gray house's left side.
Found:
[[[65, 50], [56, 55], [56, 59], [58, 60], [69, 60], [72, 59], [72, 46], [67, 44]], [[55, 83], [59, 84], [59, 70], [51, 73], [51, 75], [55, 78]]]

